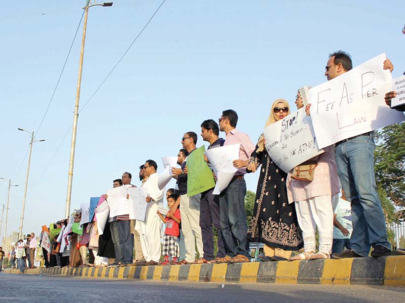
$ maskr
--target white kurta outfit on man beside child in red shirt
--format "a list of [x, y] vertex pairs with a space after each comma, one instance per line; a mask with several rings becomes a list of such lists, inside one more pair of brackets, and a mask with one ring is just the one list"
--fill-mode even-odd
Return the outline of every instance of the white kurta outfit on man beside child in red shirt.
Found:
[[159, 262], [161, 255], [160, 247], [160, 232], [161, 220], [156, 212], [158, 208], [163, 207], [163, 196], [165, 188], [160, 190], [157, 186], [157, 173], [150, 175], [149, 178], [142, 183], [142, 188], [149, 194], [152, 201], [148, 203], [145, 214], [145, 221], [137, 220], [135, 230], [138, 231], [143, 255], [146, 261], [153, 260]]

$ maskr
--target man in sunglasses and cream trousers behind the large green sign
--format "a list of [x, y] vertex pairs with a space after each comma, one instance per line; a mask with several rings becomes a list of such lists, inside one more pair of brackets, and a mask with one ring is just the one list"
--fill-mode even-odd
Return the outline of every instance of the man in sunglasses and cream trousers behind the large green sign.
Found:
[[[190, 155], [195, 149], [197, 143], [197, 134], [193, 131], [186, 132], [181, 138], [183, 148]], [[200, 216], [200, 198], [201, 194], [195, 194], [191, 197], [187, 196], [187, 163], [184, 161], [181, 168], [172, 168], [172, 173], [177, 176], [177, 184], [179, 186], [179, 197], [176, 203], [170, 209], [174, 213], [180, 205], [181, 228], [184, 234], [184, 242], [186, 244], [186, 256], [179, 264], [188, 264], [195, 261], [195, 243], [200, 256], [203, 256], [203, 238], [201, 237], [201, 227], [199, 226]]]

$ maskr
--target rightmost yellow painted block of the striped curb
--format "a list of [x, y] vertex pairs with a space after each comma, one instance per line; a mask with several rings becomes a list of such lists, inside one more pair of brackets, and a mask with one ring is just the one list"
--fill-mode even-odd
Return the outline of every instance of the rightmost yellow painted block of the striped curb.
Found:
[[405, 256], [385, 259], [384, 285], [405, 286]]

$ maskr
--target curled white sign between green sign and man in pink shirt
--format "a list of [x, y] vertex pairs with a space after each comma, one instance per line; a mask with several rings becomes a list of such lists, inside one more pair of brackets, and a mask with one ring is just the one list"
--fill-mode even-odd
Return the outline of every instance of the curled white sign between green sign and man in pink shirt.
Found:
[[217, 182], [213, 194], [220, 194], [232, 180], [237, 168], [233, 166], [233, 161], [239, 159], [240, 144], [226, 145], [211, 148], [206, 151], [208, 161], [214, 170]]

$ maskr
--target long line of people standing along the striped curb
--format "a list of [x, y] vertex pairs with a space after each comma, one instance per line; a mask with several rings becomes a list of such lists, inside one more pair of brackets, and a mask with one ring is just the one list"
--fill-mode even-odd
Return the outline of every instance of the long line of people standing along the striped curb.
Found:
[[[350, 56], [338, 51], [330, 55], [325, 76], [332, 80], [351, 69]], [[384, 62], [383, 69], [392, 72], [390, 60]], [[311, 105], [304, 104], [302, 93], [298, 90], [295, 103], [298, 109], [305, 106], [307, 115], [310, 115]], [[393, 97], [395, 92], [385, 95], [388, 106]], [[403, 111], [404, 108], [395, 110]], [[275, 100], [265, 126], [285, 118], [290, 112], [286, 99]], [[306, 161], [316, 164], [313, 180], [309, 182], [295, 178], [292, 171], [285, 173], [277, 167], [266, 150], [263, 134], [255, 146], [247, 134], [239, 131], [235, 111], [223, 111], [218, 122], [209, 119], [200, 125], [201, 137], [210, 144], [208, 149], [240, 144], [239, 159], [233, 161], [237, 172], [221, 194], [213, 194], [212, 188], [187, 196], [186, 158], [196, 149], [197, 134], [185, 132], [177, 155], [180, 168], [172, 169], [173, 177], [177, 179], [175, 189], [165, 192], [158, 188], [155, 161], [147, 160], [140, 166], [140, 186], [147, 192], [144, 221], [130, 220], [129, 214], [112, 217], [103, 234], [99, 235], [97, 214], [92, 222], [83, 226], [83, 234], [74, 230], [63, 232], [68, 219], [61, 220], [57, 224], [62, 231], [52, 240], [50, 251], [51, 257], [55, 258], [46, 257], [47, 251], [43, 249], [44, 257], [50, 262], [46, 261], [46, 266], [250, 262], [249, 242], [252, 241], [264, 243], [262, 261], [329, 259], [331, 256], [336, 259], [359, 258], [368, 257], [371, 249], [372, 257], [391, 254], [374, 178], [375, 145], [370, 132], [327, 146], [323, 148], [324, 153]], [[225, 139], [219, 137], [220, 131], [225, 133]], [[210, 166], [208, 159], [205, 160]], [[259, 169], [254, 215], [248, 226], [244, 175]], [[131, 181], [132, 175], [125, 172], [121, 179], [113, 181], [113, 187], [135, 186]], [[167, 214], [161, 211], [165, 193], [169, 206]], [[108, 195], [102, 195], [98, 205], [104, 200], [108, 201]], [[80, 221], [80, 216], [80, 210], [74, 213], [75, 223]], [[162, 222], [166, 223], [164, 232]], [[213, 226], [218, 231], [216, 256]], [[43, 230], [42, 234], [48, 232]], [[161, 233], [164, 233], [163, 261]], [[63, 246], [64, 250], [59, 250], [58, 246]], [[200, 257], [197, 260], [195, 247]], [[346, 250], [343, 251], [344, 247]], [[293, 251], [301, 248], [302, 252], [291, 257]], [[115, 261], [111, 263], [109, 259]]]

